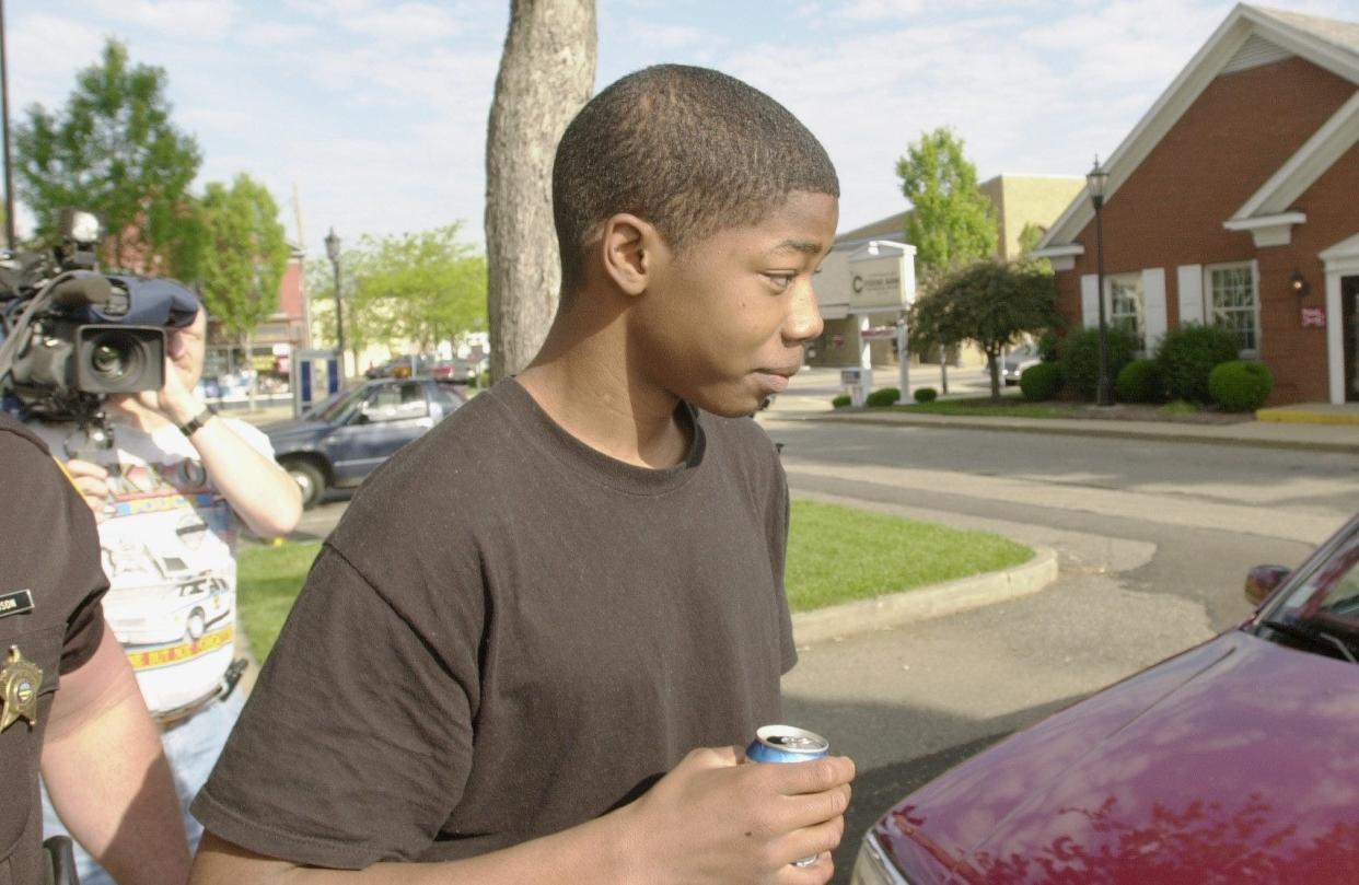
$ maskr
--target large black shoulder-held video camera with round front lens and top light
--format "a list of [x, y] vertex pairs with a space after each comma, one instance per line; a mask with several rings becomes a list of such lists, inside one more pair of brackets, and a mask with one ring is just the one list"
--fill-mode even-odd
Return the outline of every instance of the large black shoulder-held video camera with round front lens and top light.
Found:
[[174, 280], [101, 273], [88, 212], [64, 209], [58, 227], [50, 253], [0, 256], [0, 394], [110, 445], [105, 398], [164, 385], [166, 328], [192, 324], [198, 299]]

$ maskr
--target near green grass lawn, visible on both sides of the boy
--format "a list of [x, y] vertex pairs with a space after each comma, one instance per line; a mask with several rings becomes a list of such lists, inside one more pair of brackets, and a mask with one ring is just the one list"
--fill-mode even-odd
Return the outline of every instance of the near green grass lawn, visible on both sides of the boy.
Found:
[[[241, 624], [257, 661], [279, 639], [319, 549], [319, 541], [308, 541], [241, 552]], [[1030, 557], [1033, 551], [996, 534], [795, 500], [784, 583], [792, 610], [806, 612], [1010, 568]]]

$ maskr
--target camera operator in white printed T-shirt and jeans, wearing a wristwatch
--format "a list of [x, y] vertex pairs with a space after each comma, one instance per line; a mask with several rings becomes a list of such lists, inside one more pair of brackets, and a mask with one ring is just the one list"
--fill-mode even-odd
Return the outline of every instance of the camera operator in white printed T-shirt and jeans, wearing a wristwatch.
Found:
[[[160, 727], [193, 846], [202, 828], [189, 802], [242, 700], [231, 691], [239, 677], [236, 519], [269, 538], [291, 532], [302, 514], [300, 491], [275, 464], [268, 438], [194, 398], [205, 330], [201, 309], [188, 326], [166, 329], [164, 385], [107, 398], [111, 449], [76, 450], [69, 443], [84, 431], [75, 423], [30, 424], [53, 451], [77, 455], [67, 469], [99, 522], [111, 627]], [[56, 799], [56, 783], [48, 786]], [[53, 832], [50, 806], [45, 816]], [[91, 858], [77, 862], [83, 882], [107, 881]]]

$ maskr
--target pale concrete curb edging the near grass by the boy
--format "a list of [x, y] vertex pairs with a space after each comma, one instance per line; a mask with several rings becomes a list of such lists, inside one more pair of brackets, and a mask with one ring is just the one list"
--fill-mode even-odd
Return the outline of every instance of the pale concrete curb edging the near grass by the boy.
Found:
[[1057, 552], [1036, 546], [1033, 559], [1004, 571], [858, 600], [814, 612], [798, 612], [792, 616], [792, 636], [795, 644], [805, 646], [874, 629], [889, 629], [1038, 593], [1056, 579]]

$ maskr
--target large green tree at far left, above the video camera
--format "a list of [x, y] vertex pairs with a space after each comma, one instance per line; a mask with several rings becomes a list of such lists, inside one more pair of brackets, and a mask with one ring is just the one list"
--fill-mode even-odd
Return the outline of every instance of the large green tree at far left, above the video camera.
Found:
[[39, 239], [50, 242], [58, 209], [75, 207], [103, 222], [106, 264], [197, 277], [204, 230], [188, 189], [202, 158], [170, 121], [166, 82], [110, 39], [61, 111], [27, 110], [15, 126], [16, 189]]

